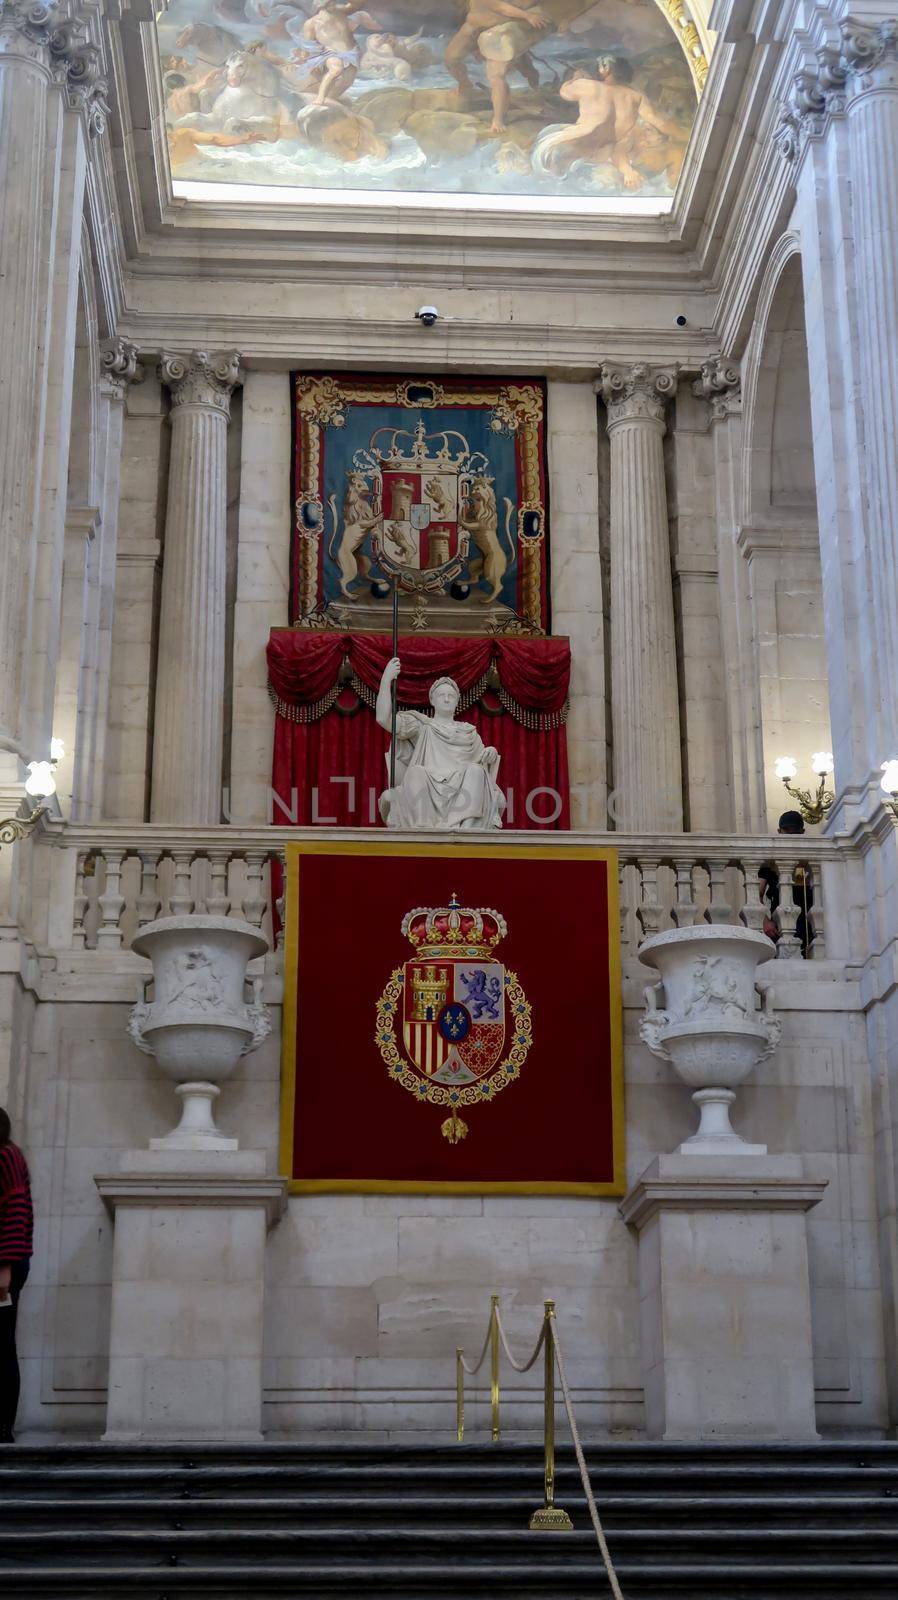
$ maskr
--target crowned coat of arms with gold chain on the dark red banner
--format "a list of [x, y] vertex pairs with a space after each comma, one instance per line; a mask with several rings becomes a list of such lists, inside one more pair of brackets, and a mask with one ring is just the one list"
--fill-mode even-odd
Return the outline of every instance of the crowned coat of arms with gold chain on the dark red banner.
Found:
[[[413, 949], [378, 1000], [376, 1042], [391, 1077], [419, 1101], [448, 1107], [450, 1144], [467, 1133], [461, 1106], [477, 1106], [520, 1075], [533, 1042], [530, 1005], [496, 957], [507, 933], [498, 910], [416, 907], [402, 920]], [[507, 1053], [506, 1053], [507, 1046]]]

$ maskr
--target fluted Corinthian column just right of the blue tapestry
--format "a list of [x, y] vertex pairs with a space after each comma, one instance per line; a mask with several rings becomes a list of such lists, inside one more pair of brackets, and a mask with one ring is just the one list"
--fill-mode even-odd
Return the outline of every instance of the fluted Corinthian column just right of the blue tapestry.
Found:
[[602, 366], [611, 440], [611, 733], [626, 832], [682, 826], [680, 707], [664, 486], [664, 403], [676, 371]]

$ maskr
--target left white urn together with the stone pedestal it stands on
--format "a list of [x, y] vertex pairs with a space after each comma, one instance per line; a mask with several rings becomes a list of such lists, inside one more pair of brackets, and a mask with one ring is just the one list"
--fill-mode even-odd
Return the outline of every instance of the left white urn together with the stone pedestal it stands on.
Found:
[[115, 1219], [106, 1438], [263, 1437], [266, 1238], [287, 1179], [211, 1115], [237, 1062], [271, 1032], [247, 962], [267, 942], [229, 917], [165, 917], [133, 947], [154, 966], [130, 1034], [173, 1078], [178, 1128], [125, 1150], [96, 1186]]

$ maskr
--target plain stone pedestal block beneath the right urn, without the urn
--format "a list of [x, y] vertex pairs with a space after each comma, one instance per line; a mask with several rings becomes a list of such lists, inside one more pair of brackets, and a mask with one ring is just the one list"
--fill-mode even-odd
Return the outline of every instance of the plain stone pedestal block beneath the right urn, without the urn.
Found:
[[621, 1202], [650, 1438], [818, 1437], [805, 1213], [824, 1189], [796, 1155], [659, 1155]]

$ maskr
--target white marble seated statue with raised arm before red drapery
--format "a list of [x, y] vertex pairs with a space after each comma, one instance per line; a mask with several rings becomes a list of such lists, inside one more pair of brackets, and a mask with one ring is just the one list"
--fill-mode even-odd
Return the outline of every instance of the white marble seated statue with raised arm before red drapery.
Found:
[[[399, 670], [394, 656], [378, 690], [376, 717], [387, 733]], [[405, 829], [501, 827], [506, 797], [496, 784], [499, 752], [483, 744], [469, 722], [456, 722], [461, 694], [453, 678], [437, 678], [429, 699], [432, 717], [397, 712], [397, 782], [381, 795], [384, 822]]]

